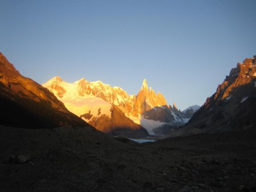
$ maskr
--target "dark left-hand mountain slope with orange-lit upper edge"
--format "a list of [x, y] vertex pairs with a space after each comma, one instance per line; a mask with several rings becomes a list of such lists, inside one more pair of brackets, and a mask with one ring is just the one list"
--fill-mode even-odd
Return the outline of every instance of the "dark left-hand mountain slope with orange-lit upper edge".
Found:
[[0, 53], [1, 124], [26, 128], [88, 126], [73, 115], [55, 95], [23, 77]]

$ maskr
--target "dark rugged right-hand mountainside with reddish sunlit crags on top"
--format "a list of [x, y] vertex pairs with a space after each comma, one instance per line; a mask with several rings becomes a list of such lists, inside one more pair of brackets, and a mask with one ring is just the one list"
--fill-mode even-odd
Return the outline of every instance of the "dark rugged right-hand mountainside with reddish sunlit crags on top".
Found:
[[256, 127], [256, 56], [230, 70], [216, 93], [188, 123], [190, 127], [240, 130]]

